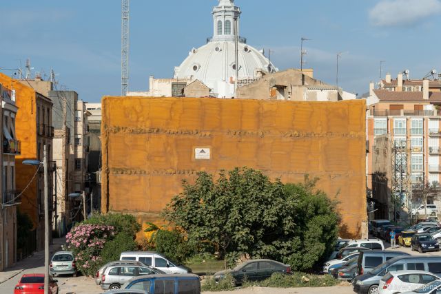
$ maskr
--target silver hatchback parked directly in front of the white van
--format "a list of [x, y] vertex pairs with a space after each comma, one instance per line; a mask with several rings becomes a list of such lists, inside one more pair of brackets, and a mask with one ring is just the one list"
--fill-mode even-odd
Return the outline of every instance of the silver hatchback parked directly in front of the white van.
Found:
[[156, 272], [145, 265], [118, 264], [107, 266], [101, 277], [101, 288], [104, 290], [119, 289], [132, 277], [139, 275], [156, 275]]

